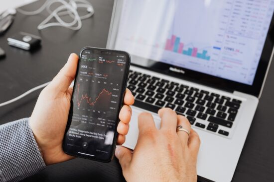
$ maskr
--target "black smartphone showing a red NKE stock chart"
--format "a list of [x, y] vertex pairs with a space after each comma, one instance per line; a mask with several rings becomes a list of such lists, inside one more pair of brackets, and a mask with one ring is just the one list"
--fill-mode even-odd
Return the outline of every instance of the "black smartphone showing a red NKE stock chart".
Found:
[[130, 62], [127, 52], [83, 48], [63, 140], [66, 154], [100, 162], [112, 160]]

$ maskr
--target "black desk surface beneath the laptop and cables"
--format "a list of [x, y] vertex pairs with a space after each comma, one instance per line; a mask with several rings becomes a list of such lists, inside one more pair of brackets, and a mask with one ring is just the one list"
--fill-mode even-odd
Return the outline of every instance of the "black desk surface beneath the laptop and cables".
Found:
[[[51, 27], [41, 31], [37, 25], [46, 17], [43, 12], [36, 16], [17, 13], [10, 29], [0, 36], [0, 47], [6, 58], [0, 60], [0, 103], [12, 99], [37, 85], [51, 80], [65, 64], [70, 53], [79, 54], [85, 46], [105, 47], [112, 13], [113, 0], [91, 0], [95, 14], [83, 21], [79, 31]], [[32, 10], [40, 1], [24, 9]], [[42, 47], [29, 53], [9, 47], [6, 38], [24, 31], [39, 35]], [[266, 81], [263, 95], [243, 148], [233, 182], [270, 182], [274, 177], [274, 64]], [[29, 96], [0, 108], [0, 124], [29, 117], [39, 95]], [[233, 150], [233, 149], [231, 149]], [[224, 164], [225, 165], [225, 164]], [[114, 159], [104, 164], [85, 159], [74, 159], [47, 167], [29, 177], [25, 182], [121, 182], [124, 181], [121, 167]]]

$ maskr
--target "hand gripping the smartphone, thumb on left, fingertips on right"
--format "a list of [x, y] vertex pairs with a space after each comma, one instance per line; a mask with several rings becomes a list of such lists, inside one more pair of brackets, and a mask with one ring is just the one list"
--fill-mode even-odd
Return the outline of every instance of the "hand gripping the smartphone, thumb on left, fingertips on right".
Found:
[[[73, 90], [69, 86], [75, 78], [77, 64], [78, 56], [71, 54], [65, 66], [52, 82], [42, 90], [30, 117], [30, 127], [46, 165], [74, 158], [63, 152], [62, 141]], [[127, 89], [124, 106], [119, 115], [121, 121], [117, 127], [118, 144], [125, 142], [125, 135], [129, 131], [132, 113], [130, 105], [132, 104], [134, 104], [134, 96]]]

